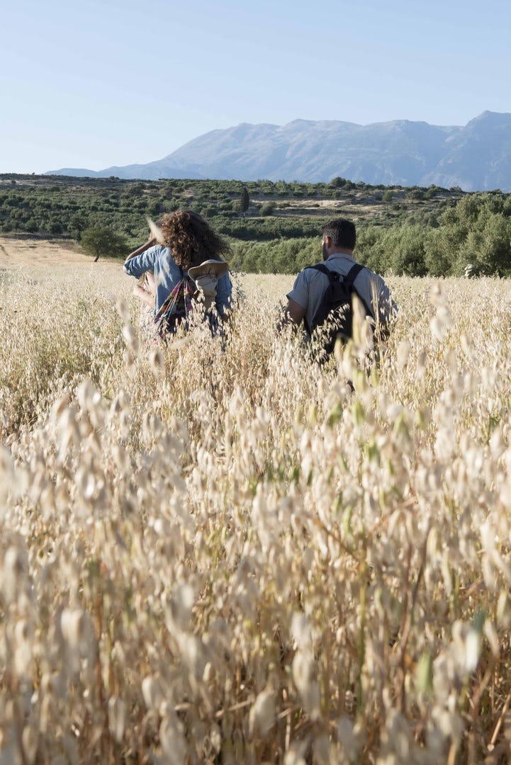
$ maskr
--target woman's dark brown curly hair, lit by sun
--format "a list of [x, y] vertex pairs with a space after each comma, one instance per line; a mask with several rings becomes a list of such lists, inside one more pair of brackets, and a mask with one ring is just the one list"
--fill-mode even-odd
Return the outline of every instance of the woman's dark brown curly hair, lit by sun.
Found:
[[193, 210], [176, 210], [158, 221], [165, 246], [181, 269], [200, 265], [205, 260], [222, 260], [229, 251], [229, 244], [218, 236], [209, 224]]

